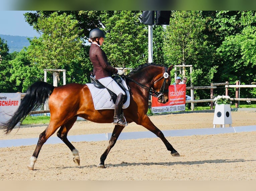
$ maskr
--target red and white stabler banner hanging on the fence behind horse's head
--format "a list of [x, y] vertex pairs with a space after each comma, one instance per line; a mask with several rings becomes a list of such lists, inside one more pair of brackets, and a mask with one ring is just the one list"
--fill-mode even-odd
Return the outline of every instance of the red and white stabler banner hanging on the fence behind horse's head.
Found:
[[158, 98], [152, 97], [152, 113], [165, 113], [173, 111], [184, 111], [186, 104], [186, 85], [177, 84], [169, 86], [169, 101], [165, 104], [159, 103]]

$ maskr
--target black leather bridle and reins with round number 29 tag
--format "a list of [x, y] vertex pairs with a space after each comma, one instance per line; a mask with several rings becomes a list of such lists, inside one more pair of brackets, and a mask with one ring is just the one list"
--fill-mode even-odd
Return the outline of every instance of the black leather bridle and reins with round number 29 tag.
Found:
[[131, 79], [131, 78], [128, 77], [128, 76], [124, 76], [124, 75], [123, 75], [123, 77], [126, 78], [126, 79], [128, 79], [128, 80], [130, 80], [130, 81], [132, 81], [132, 82], [134, 82], [135, 84], [139, 85], [140, 87], [144, 88], [145, 90], [147, 90], [147, 91], [149, 92], [149, 95], [152, 95], [152, 96], [154, 96], [154, 97], [159, 98], [159, 97], [162, 96], [164, 93], [168, 93], [168, 92], [169, 92], [169, 89], [168, 89], [168, 90], [164, 90], [164, 89], [165, 89], [165, 86], [166, 86], [166, 80], [167, 80], [168, 78], [170, 78], [170, 76], [169, 76], [168, 73], [167, 73], [167, 68], [164, 67], [164, 66], [163, 66], [163, 68], [165, 69], [165, 70], [164, 70], [164, 73], [163, 73], [163, 76], [161, 76], [159, 79], [157, 79], [157, 80], [153, 83], [153, 85], [154, 85], [154, 84], [156, 84], [158, 81], [160, 81], [162, 78], [164, 78], [163, 84], [162, 84], [162, 86], [161, 86], [159, 92], [157, 92], [157, 91], [153, 90], [152, 88], [149, 88], [149, 87], [147, 87], [147, 86], [145, 86], [145, 85], [143, 85], [143, 84], [140, 84], [140, 83], [136, 82], [135, 80]]

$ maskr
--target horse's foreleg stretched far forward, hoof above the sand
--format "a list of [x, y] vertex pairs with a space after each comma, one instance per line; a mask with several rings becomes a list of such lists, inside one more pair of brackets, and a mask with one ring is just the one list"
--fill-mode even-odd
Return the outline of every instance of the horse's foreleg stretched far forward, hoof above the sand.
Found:
[[168, 151], [171, 151], [171, 155], [172, 156], [179, 156], [179, 153], [172, 147], [172, 145], [167, 141], [167, 139], [164, 137], [162, 131], [160, 131], [153, 123], [152, 121], [149, 119], [148, 116], [146, 116], [143, 119], [143, 122], [141, 124], [142, 126], [144, 126], [145, 128], [147, 128], [148, 130], [150, 130], [151, 132], [153, 132], [156, 136], [158, 136], [163, 143], [165, 144], [166, 148]]

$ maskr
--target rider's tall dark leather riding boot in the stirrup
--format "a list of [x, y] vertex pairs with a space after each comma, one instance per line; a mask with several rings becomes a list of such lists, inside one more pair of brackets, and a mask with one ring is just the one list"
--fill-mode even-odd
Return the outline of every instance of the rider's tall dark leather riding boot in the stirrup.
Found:
[[123, 121], [123, 117], [121, 117], [124, 96], [125, 95], [120, 93], [116, 99], [115, 115], [114, 115], [114, 122], [113, 122], [115, 125], [126, 125], [126, 122]]

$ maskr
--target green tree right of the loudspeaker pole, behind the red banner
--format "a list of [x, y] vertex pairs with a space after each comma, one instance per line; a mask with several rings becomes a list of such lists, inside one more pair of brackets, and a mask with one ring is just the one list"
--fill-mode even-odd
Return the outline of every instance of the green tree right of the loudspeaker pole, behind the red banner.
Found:
[[[207, 40], [205, 33], [206, 21], [201, 11], [173, 11], [170, 25], [165, 30], [165, 62], [169, 65], [192, 65], [191, 76], [185, 67], [178, 75], [187, 76], [194, 86], [210, 85], [217, 68], [214, 65], [215, 47]], [[197, 91], [194, 93], [198, 99], [206, 96]]]

